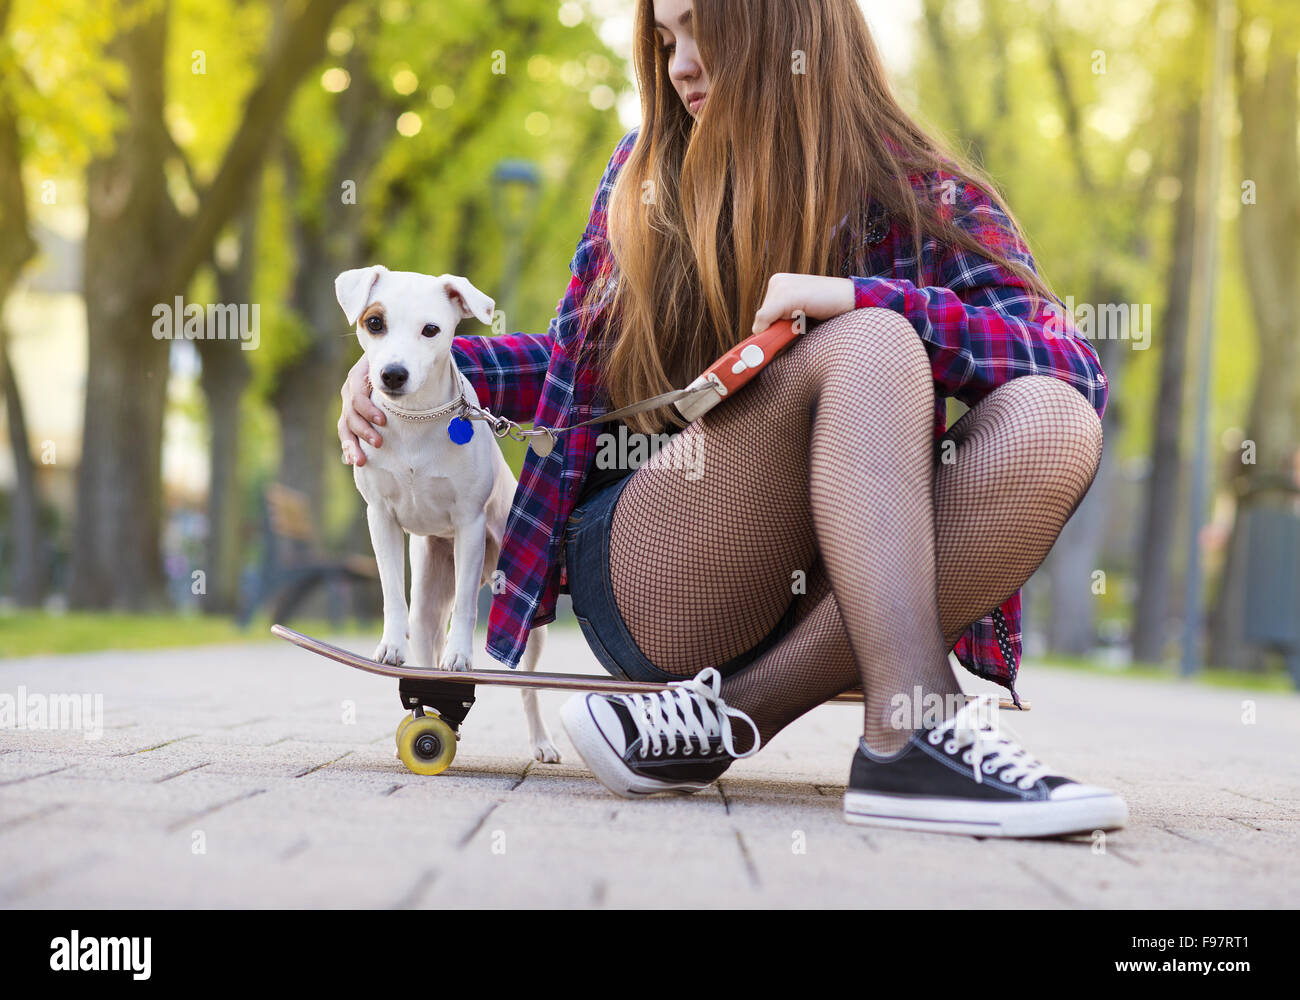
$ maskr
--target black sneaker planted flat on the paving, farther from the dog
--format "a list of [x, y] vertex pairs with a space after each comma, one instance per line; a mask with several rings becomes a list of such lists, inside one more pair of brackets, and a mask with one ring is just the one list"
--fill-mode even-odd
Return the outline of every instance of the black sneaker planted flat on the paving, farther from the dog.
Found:
[[922, 728], [893, 757], [859, 740], [844, 818], [863, 826], [974, 836], [1060, 836], [1114, 830], [1128, 819], [1106, 788], [1054, 774], [998, 735], [974, 705]]

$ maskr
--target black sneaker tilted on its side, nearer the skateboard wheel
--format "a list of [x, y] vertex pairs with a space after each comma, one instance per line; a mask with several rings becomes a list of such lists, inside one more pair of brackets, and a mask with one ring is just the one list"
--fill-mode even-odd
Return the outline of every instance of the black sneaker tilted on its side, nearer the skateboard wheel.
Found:
[[[722, 675], [708, 667], [658, 694], [575, 694], [560, 718], [578, 756], [615, 795], [698, 792], [732, 761], [758, 753], [754, 720], [728, 707], [720, 691]], [[754, 731], [745, 753], [736, 752], [732, 719]]]

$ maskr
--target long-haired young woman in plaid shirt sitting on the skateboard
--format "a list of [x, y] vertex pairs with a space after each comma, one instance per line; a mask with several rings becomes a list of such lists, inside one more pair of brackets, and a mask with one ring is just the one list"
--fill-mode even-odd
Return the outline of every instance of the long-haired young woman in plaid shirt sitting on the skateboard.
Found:
[[[703, 788], [861, 687], [852, 822], [1122, 826], [1119, 796], [963, 706], [948, 663], [1015, 697], [1019, 586], [1092, 482], [1106, 401], [992, 183], [898, 107], [857, 0], [640, 0], [636, 72], [642, 125], [549, 333], [455, 339], [480, 401], [569, 427], [685, 386], [776, 320], [807, 329], [685, 428], [658, 410], [529, 453], [488, 650], [514, 666], [567, 586], [607, 670], [671, 681], [564, 707], [619, 795]], [[970, 411], [945, 430], [948, 397]], [[382, 423], [363, 359], [344, 460]], [[599, 467], [629, 432], [671, 437], [634, 471]]]

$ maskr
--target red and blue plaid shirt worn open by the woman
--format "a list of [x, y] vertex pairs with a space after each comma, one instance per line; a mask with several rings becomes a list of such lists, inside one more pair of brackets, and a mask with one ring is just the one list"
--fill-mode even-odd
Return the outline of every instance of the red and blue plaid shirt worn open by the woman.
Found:
[[[636, 144], [637, 129], [619, 142], [601, 178], [590, 221], [569, 265], [572, 280], [546, 334], [456, 337], [452, 352], [478, 402], [511, 420], [568, 427], [607, 412], [601, 385], [577, 347], [590, 330], [580, 303], [589, 282], [612, 267], [606, 237], [606, 205]], [[939, 186], [940, 204], [952, 203], [954, 221], [1004, 256], [1034, 267], [1028, 248], [1006, 216], [976, 187], [948, 174], [910, 178], [914, 186]], [[880, 228], [884, 229], [883, 226]], [[1106, 378], [1087, 341], [1071, 336], [1063, 307], [1053, 320], [1052, 306], [1035, 313], [1023, 283], [983, 256], [922, 243], [920, 285], [910, 237], [890, 224], [868, 238], [870, 276], [849, 274], [855, 307], [893, 309], [915, 326], [930, 355], [936, 393], [936, 437], [945, 430], [942, 401], [956, 397], [975, 404], [992, 389], [1024, 375], [1048, 375], [1075, 386], [1098, 414], [1105, 408]], [[598, 320], [599, 321], [599, 320]], [[1050, 322], [1050, 325], [1048, 325]], [[506, 524], [498, 570], [499, 592], [488, 620], [488, 653], [514, 667], [528, 632], [555, 619], [555, 598], [564, 583], [560, 544], [569, 511], [594, 464], [593, 424], [564, 434], [546, 458], [532, 450], [524, 460], [519, 490]], [[1020, 657], [1020, 596], [976, 622], [953, 651], [971, 672], [1015, 692]]]

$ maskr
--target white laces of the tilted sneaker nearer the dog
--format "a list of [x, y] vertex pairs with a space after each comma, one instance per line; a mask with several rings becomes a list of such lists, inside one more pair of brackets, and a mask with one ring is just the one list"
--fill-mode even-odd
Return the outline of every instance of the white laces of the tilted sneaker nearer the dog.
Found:
[[[696, 752], [692, 739], [699, 743], [699, 752], [708, 753], [710, 737], [719, 737], [723, 748], [740, 759], [758, 753], [758, 727], [740, 709], [732, 709], [722, 700], [723, 678], [714, 667], [706, 667], [690, 680], [673, 680], [668, 689], [656, 694], [618, 694], [632, 714], [632, 722], [641, 736], [640, 756], [649, 752], [662, 757], [666, 752], [677, 753], [677, 740], [682, 743], [681, 753], [689, 757]], [[699, 709], [699, 717], [692, 706]], [[736, 752], [732, 740], [731, 720], [742, 719], [754, 731], [754, 745], [745, 753]]]

